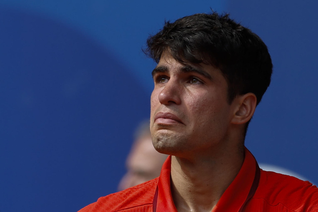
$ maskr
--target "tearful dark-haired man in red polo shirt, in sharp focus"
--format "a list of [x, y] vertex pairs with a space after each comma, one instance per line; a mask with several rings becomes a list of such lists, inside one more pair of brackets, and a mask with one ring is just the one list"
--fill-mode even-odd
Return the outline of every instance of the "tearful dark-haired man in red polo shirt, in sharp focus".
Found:
[[82, 211], [318, 211], [308, 181], [266, 172], [244, 147], [269, 86], [266, 45], [228, 15], [166, 22], [147, 41], [153, 70], [150, 131], [169, 154], [159, 178], [101, 197]]

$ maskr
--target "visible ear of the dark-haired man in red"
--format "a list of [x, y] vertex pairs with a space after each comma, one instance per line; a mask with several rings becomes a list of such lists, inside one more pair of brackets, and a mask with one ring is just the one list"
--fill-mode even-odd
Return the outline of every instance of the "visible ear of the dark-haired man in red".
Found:
[[253, 93], [247, 93], [236, 97], [237, 106], [232, 118], [232, 124], [244, 124], [248, 122], [256, 108], [256, 96]]

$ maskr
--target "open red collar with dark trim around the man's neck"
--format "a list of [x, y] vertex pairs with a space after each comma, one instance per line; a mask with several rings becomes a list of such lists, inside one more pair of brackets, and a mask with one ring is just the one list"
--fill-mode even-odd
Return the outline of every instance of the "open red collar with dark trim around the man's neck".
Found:
[[[259, 166], [250, 151], [244, 149], [243, 165], [230, 186], [225, 190], [212, 212], [241, 212], [254, 195], [258, 182]], [[153, 201], [153, 212], [177, 212], [170, 190], [171, 156], [164, 162]]]

